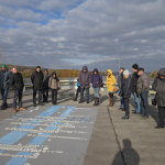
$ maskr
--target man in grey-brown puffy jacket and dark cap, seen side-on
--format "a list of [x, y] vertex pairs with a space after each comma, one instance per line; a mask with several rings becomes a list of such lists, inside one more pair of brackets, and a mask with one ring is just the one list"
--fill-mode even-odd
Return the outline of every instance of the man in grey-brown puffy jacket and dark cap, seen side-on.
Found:
[[138, 79], [136, 91], [141, 97], [141, 117], [142, 119], [148, 118], [148, 101], [147, 95], [150, 90], [150, 78], [144, 73], [144, 68], [139, 67], [138, 75], [140, 76]]

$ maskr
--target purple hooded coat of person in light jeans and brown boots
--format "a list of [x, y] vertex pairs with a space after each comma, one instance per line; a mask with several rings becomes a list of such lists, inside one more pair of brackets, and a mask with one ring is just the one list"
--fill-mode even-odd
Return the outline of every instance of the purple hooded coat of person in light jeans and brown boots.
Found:
[[100, 82], [102, 82], [102, 76], [98, 73], [98, 69], [95, 68], [94, 72], [97, 72], [97, 75], [91, 76], [91, 84], [94, 88], [100, 87]]

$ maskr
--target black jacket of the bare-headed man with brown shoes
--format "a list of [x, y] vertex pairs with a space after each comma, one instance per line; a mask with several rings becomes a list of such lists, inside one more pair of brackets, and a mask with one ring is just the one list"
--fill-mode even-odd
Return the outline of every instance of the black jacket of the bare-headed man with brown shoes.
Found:
[[12, 74], [10, 78], [10, 86], [12, 87], [13, 90], [20, 90], [20, 91], [23, 90], [24, 82], [23, 82], [22, 75], [20, 73]]

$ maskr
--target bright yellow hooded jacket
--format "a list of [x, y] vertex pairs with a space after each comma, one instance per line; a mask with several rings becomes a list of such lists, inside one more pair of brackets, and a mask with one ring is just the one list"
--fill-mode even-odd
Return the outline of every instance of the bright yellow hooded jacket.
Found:
[[108, 88], [108, 91], [113, 91], [114, 89], [114, 85], [116, 85], [116, 77], [112, 75], [112, 70], [111, 69], [108, 69], [107, 73], [110, 73], [111, 76], [107, 76], [107, 88]]

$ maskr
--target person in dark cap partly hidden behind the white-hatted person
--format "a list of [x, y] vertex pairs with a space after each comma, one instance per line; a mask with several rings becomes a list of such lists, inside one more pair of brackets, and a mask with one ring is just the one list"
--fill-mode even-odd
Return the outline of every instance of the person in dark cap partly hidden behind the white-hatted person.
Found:
[[[119, 70], [120, 72], [120, 75], [118, 77], [119, 94], [120, 94], [121, 88], [122, 88], [122, 80], [123, 80], [123, 72], [124, 70], [125, 70], [124, 67], [121, 67]], [[124, 102], [123, 102], [123, 98], [121, 96], [120, 96], [120, 102], [121, 102], [121, 105], [120, 105], [120, 108], [118, 110], [124, 111]]]

